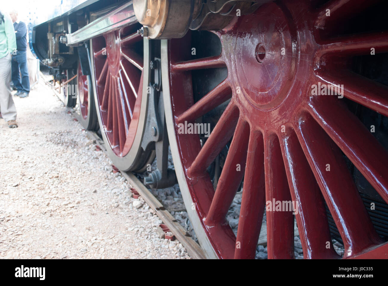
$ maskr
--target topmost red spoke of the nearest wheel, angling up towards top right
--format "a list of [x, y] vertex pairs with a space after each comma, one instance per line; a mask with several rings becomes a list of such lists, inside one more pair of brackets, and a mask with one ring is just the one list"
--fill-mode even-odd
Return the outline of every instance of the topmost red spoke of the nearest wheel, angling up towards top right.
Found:
[[[359, 0], [355, 5], [352, 0], [331, 0], [319, 8], [315, 26], [323, 29], [328, 22], [334, 25], [339, 20], [348, 19], [357, 13], [363, 12], [368, 6], [376, 2], [377, 0]], [[330, 10], [330, 16], [327, 16], [327, 9]]]

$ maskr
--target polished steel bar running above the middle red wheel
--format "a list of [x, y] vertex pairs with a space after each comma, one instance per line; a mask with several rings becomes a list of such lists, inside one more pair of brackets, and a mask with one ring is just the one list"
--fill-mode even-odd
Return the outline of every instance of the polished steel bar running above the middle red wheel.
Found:
[[106, 15], [99, 17], [81, 29], [66, 34], [66, 45], [76, 46], [83, 41], [101, 36], [111, 31], [137, 22], [132, 1], [112, 9]]

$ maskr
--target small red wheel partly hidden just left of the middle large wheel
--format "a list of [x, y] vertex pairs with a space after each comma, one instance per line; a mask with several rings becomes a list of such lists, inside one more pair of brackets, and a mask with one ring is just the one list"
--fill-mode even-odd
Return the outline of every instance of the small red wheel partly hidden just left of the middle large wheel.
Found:
[[99, 128], [99, 124], [94, 107], [94, 97], [90, 85], [90, 76], [82, 74], [81, 64], [78, 65], [77, 79], [78, 105], [81, 113], [81, 124], [87, 130], [96, 131]]

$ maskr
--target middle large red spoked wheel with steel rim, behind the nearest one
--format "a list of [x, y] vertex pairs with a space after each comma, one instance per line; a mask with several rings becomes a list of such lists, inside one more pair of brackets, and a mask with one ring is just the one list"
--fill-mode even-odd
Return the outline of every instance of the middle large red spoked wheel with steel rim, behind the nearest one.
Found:
[[[154, 151], [142, 150], [147, 116], [148, 41], [131, 25], [91, 40], [94, 99], [109, 158], [118, 169], [142, 172]], [[145, 82], [145, 84], [147, 84]]]

